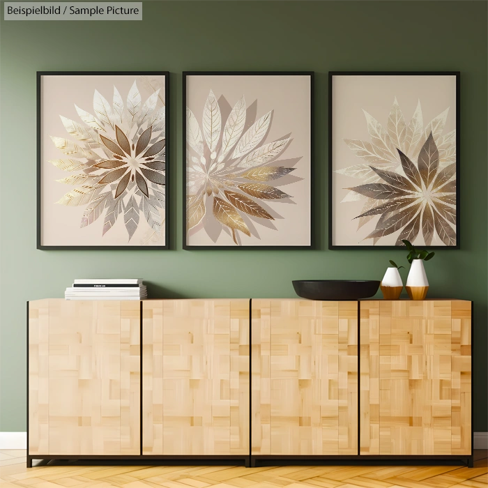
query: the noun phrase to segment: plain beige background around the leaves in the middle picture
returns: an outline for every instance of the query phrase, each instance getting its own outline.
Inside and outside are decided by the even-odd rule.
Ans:
[[[269,229],[253,220],[260,238],[248,237],[239,232],[242,246],[285,246],[310,245],[310,76],[307,75],[190,75],[187,83],[187,107],[195,114],[201,127],[204,105],[210,90],[219,100],[224,96],[231,107],[243,95],[246,107],[250,107],[257,100],[256,119],[273,110],[270,130],[264,139],[264,144],[282,139],[291,133],[293,140],[276,160],[267,166],[277,166],[277,161],[302,157],[290,175],[303,178],[289,185],[280,185],[280,179],[264,182],[280,188],[291,195],[295,204],[280,200],[266,200],[262,203],[270,206],[282,219],[273,222],[277,230]],[[222,117],[222,130],[227,118]],[[245,128],[247,130],[247,128]],[[187,146],[187,151],[191,150]],[[287,166],[287,164],[284,164]],[[251,182],[250,182],[251,183]],[[255,183],[255,182],[254,182]],[[259,204],[261,200],[254,198]],[[211,206],[207,206],[206,213],[212,213]],[[268,220],[269,222],[269,220]],[[193,230],[193,229],[192,229]],[[187,234],[187,245],[229,245],[238,247],[227,232],[220,233],[218,241],[214,243],[206,234],[205,229],[199,229]]]

